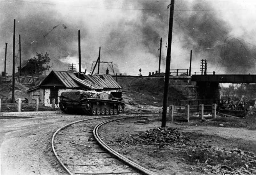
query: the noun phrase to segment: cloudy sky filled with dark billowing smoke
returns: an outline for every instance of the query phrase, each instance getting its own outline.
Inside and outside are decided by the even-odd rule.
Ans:
[[[164,72],[169,4],[170,1],[0,1],[0,69],[4,71],[7,42],[7,73],[12,74],[15,19],[15,55],[19,57],[20,34],[21,60],[33,58],[36,52],[47,52],[50,66],[53,65],[48,73],[52,69],[67,70],[68,63],[76,64],[78,70],[78,30],[82,71],[90,72],[101,47],[101,61],[113,62],[115,73],[138,75],[141,68],[142,75],[147,76],[158,70],[162,37]],[[200,60],[206,59],[208,72],[255,74],[255,16],[256,1],[175,1],[171,69],[188,69],[192,50],[192,72],[199,72]],[[18,57],[15,67],[19,65]],[[108,64],[101,64],[101,73],[107,67],[110,69]]]

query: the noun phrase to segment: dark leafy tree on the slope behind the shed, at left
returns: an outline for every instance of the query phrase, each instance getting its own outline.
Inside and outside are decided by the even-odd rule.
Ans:
[[[38,54],[36,52],[36,57],[28,60],[27,69],[29,75],[42,75],[45,70],[49,70],[51,66],[48,65],[50,62],[49,54],[43,55],[43,53]]]

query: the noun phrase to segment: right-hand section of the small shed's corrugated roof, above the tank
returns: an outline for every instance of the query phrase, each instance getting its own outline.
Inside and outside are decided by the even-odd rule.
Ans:
[[[111,75],[83,75],[83,77],[103,89],[122,89]]]

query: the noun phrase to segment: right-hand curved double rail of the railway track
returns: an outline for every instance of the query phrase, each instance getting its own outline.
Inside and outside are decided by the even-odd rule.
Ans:
[[[136,116],[138,117],[138,116]],[[143,116],[144,117],[144,116]],[[132,117],[123,117],[123,118],[118,118],[118,119],[113,119],[113,120],[108,120],[105,122],[102,122],[100,124],[98,124],[94,129],[93,129],[93,135],[95,137],[95,139],[100,143],[100,145],[102,147],[104,147],[105,149],[107,149],[111,154],[115,155],[117,158],[123,160],[125,163],[131,165],[132,167],[134,167],[135,169],[143,172],[146,175],[156,175],[155,173],[149,171],[148,169],[140,166],[139,164],[136,164],[135,162],[129,160],[128,158],[124,157],[123,155],[119,154],[118,152],[116,152],[114,149],[110,148],[105,142],[102,141],[102,139],[100,138],[99,134],[98,134],[98,130],[99,128],[109,122],[115,121],[115,120],[122,120],[122,119],[128,119],[128,118],[134,118],[134,116]]]

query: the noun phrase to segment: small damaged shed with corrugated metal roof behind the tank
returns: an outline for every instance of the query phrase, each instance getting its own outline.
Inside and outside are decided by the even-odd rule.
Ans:
[[[28,90],[28,103],[39,98],[40,106],[51,106],[52,99],[59,103],[60,93],[68,89],[119,91],[122,87],[111,75],[84,75],[78,72],[52,71],[37,87]]]

